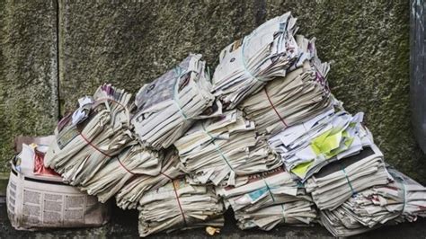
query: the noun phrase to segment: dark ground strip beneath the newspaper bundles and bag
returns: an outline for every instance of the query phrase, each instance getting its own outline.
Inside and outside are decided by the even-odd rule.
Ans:
[[[136,210],[123,211],[112,209],[111,222],[97,228],[78,228],[63,230],[48,230],[41,232],[16,231],[10,225],[4,198],[0,197],[0,238],[138,238],[138,213]],[[204,238],[211,237],[203,229],[159,234],[151,238]],[[270,232],[261,230],[242,231],[235,226],[231,213],[226,214],[226,226],[216,238],[333,238],[323,227],[289,227],[279,226]],[[415,223],[405,223],[399,226],[387,226],[376,231],[359,235],[356,238],[426,238],[426,219]]]

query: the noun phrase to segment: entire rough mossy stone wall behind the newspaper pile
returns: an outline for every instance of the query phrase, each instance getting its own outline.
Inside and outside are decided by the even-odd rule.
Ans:
[[[4,160],[15,135],[51,132],[59,111],[72,110],[78,97],[99,84],[136,93],[190,52],[203,54],[214,68],[220,49],[265,20],[292,11],[299,32],[315,36],[320,57],[332,61],[333,93],[348,111],[366,113],[366,125],[387,162],[426,182],[426,157],[410,123],[408,2],[119,2],[59,0],[57,12],[56,1],[0,4]],[[55,33],[58,51],[52,50]]]

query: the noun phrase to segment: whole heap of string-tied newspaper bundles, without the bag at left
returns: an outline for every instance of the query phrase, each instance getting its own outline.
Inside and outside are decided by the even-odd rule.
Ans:
[[[390,168],[327,84],[315,39],[285,13],[220,52],[130,93],[110,84],[55,129],[44,165],[119,208],[141,236],[224,226],[321,224],[335,236],[426,217],[426,188]]]

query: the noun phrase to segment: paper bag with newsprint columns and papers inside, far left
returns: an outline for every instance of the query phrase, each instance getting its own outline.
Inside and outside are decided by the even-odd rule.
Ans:
[[[28,170],[23,166],[33,164],[37,156],[24,153],[31,152],[31,147],[22,142],[36,144],[32,149],[41,150],[51,139],[25,137],[22,140],[21,137],[15,140],[15,149],[21,152],[12,161],[6,190],[7,213],[12,226],[17,230],[39,230],[106,224],[109,204],[101,204],[95,197],[65,184],[56,174],[40,173],[36,168]]]

